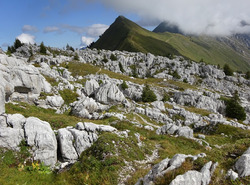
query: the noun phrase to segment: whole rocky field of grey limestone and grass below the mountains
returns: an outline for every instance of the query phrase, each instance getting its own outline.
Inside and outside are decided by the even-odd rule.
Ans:
[[[0,53],[0,184],[250,183],[247,75],[178,55],[39,51]]]

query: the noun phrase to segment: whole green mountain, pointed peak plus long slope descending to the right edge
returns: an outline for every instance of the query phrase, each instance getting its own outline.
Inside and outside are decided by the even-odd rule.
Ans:
[[[185,36],[178,33],[154,33],[119,16],[92,48],[150,52],[155,55],[182,55],[194,61],[220,65],[234,70],[250,69],[250,49],[236,38]]]

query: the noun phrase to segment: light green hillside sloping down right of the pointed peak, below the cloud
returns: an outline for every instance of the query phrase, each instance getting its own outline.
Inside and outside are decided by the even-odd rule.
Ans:
[[[229,64],[234,70],[247,71],[250,69],[249,59],[243,57],[230,46],[220,42],[215,37],[184,36],[174,33],[159,33],[159,37],[171,44],[181,55],[194,61],[201,59],[209,64]]]

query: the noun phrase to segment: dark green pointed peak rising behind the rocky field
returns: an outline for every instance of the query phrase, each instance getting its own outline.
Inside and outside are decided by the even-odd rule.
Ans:
[[[158,39],[156,33],[141,28],[122,16],[115,20],[92,47],[107,50],[151,52],[162,56],[180,54],[170,44]]]

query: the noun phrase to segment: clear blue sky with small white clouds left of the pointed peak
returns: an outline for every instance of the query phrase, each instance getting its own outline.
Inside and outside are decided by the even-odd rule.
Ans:
[[[100,2],[77,0],[0,0],[0,47],[18,37],[24,42],[73,47],[89,44],[105,31],[119,12]],[[126,14],[136,21],[137,16]]]

